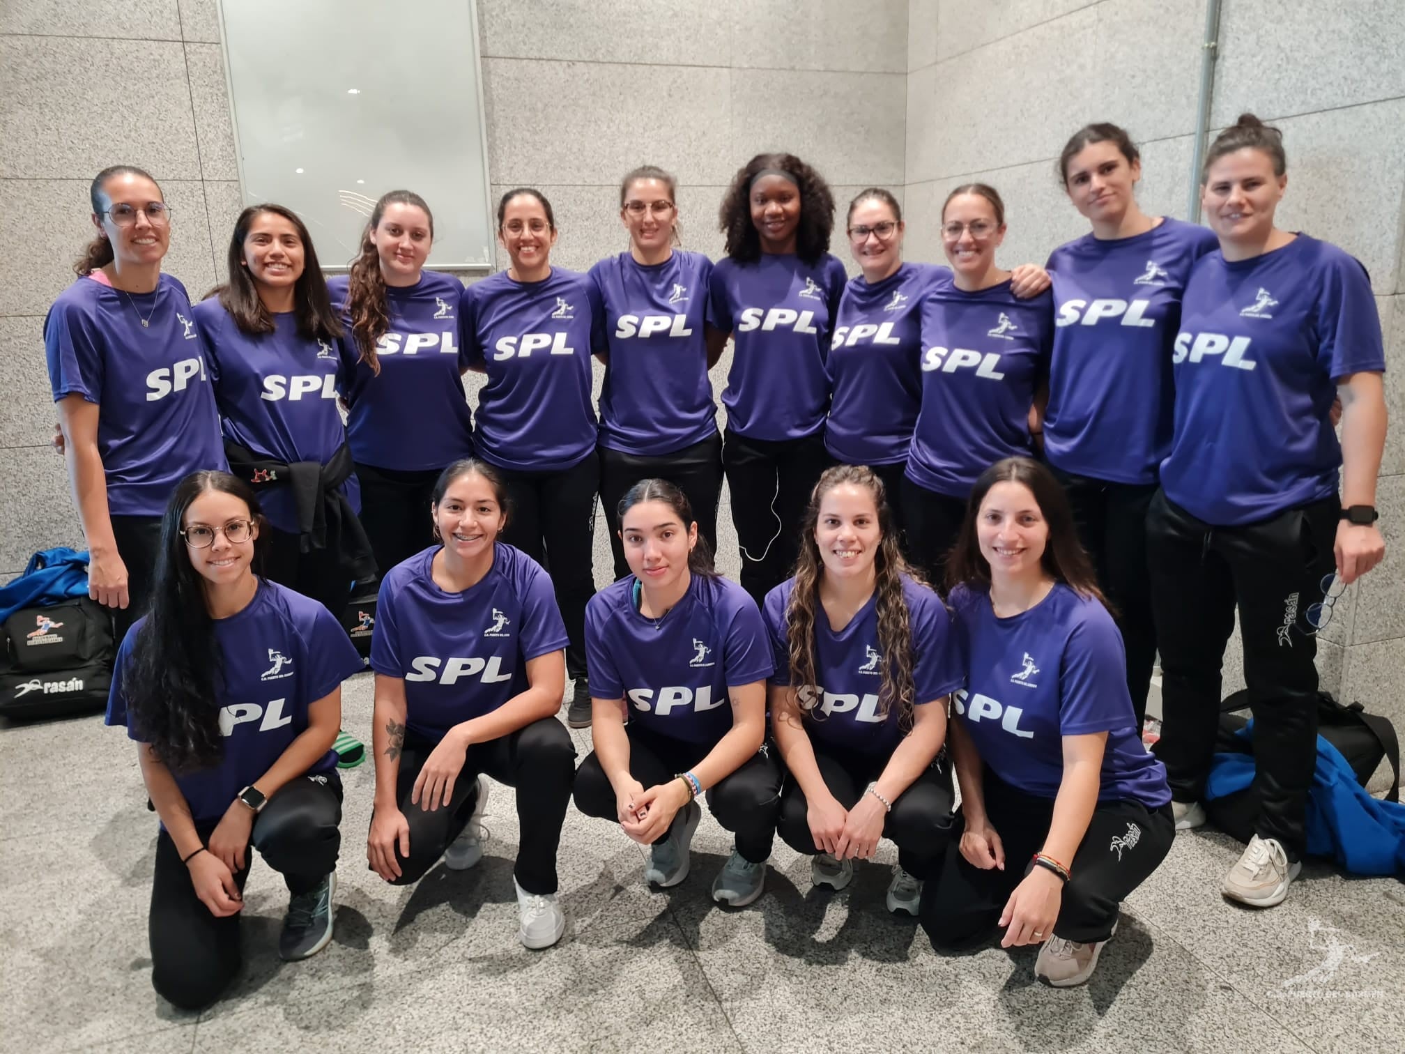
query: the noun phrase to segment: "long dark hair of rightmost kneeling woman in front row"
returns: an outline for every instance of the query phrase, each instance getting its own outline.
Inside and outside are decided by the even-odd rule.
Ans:
[[[1102,601],[1104,607],[1111,610],[1107,597],[1097,587],[1093,562],[1078,541],[1078,528],[1073,526],[1073,510],[1068,503],[1068,495],[1064,493],[1064,488],[1059,486],[1054,474],[1033,458],[996,461],[975,481],[967,502],[965,519],[961,521],[961,534],[947,558],[947,587],[961,583],[991,585],[991,564],[981,555],[975,520],[981,514],[981,502],[996,483],[1023,483],[1034,495],[1040,514],[1050,528],[1048,542],[1040,558],[1044,571],[1057,582],[1065,583],[1082,596]]]

